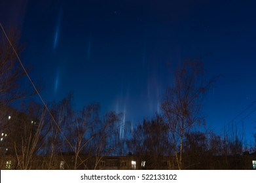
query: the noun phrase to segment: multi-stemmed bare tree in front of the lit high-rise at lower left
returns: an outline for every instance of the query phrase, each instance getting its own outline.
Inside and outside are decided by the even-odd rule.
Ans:
[[[43,128],[45,110],[37,103],[22,105],[24,111],[9,107],[9,118],[3,121],[5,129],[1,131],[1,154],[10,156],[16,162],[13,169],[31,169],[37,152],[44,144]]]

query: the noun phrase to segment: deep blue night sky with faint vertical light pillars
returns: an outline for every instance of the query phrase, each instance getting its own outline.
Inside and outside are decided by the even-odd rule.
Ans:
[[[219,76],[202,105],[206,128],[221,133],[225,124],[244,122],[250,139],[256,131],[254,2],[1,0],[0,22],[20,29],[27,43],[22,61],[32,66],[33,80],[43,80],[47,102],[73,92],[75,108],[98,102],[102,113],[124,112],[136,124],[158,112],[173,82],[170,70],[195,58],[206,78]]]

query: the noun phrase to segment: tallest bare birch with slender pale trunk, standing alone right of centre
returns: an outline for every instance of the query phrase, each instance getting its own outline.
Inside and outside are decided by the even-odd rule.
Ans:
[[[161,109],[172,137],[178,169],[183,169],[183,142],[185,133],[204,123],[200,107],[204,93],[213,80],[204,82],[202,63],[186,61],[174,73],[174,85],[168,88]]]

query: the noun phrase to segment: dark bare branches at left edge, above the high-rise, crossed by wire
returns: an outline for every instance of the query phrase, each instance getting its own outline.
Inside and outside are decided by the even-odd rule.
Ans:
[[[12,45],[3,31],[0,32],[0,105],[4,105],[30,94],[20,88],[20,80],[24,78],[25,73],[16,56],[16,53],[20,54],[23,50],[19,44],[18,31],[9,31],[8,37]]]

